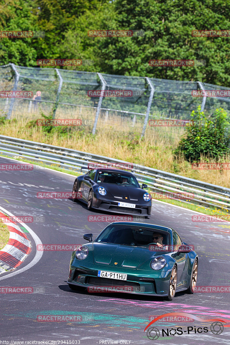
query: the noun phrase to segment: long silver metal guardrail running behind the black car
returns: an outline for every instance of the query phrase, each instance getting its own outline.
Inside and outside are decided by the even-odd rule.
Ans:
[[[57,166],[76,172],[87,168],[88,164],[131,164],[132,172],[140,183],[148,184],[152,192],[161,194],[190,193],[183,203],[197,204],[205,207],[223,208],[230,211],[230,188],[212,185],[199,180],[172,174],[120,159],[99,156],[88,152],[48,145],[40,142],[12,138],[0,135],[0,154],[9,157],[19,156],[35,162]],[[178,200],[178,198],[175,198]]]

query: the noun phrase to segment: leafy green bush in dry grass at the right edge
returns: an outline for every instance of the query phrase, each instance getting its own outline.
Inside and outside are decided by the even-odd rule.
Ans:
[[[192,125],[186,127],[185,135],[174,150],[177,157],[182,154],[188,161],[199,161],[201,155],[219,159],[230,153],[229,122],[223,108],[216,109],[211,120],[199,106],[192,111],[191,118]]]

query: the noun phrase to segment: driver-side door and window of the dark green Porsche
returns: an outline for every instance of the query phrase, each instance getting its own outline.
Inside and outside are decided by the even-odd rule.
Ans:
[[[180,253],[177,254],[177,251],[179,247],[183,244],[180,236],[176,233],[176,231],[173,231],[172,233],[172,239],[173,239],[173,254],[172,257],[177,262],[177,287],[181,287],[184,284],[187,284],[186,279],[186,272],[187,272],[187,254],[186,253]]]

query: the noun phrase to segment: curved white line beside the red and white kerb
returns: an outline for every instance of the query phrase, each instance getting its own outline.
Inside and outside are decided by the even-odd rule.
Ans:
[[[3,208],[3,207],[1,207],[1,206],[0,206],[0,210],[2,210],[3,212],[5,212],[6,214],[8,214],[8,215],[11,216],[11,217],[16,217],[16,216],[14,216],[11,212],[7,211],[5,208]],[[25,267],[22,267],[22,268],[20,268],[20,269],[14,271],[14,272],[12,272],[12,273],[10,273],[10,274],[7,274],[7,275],[4,276],[4,277],[0,277],[0,280],[6,279],[6,278],[10,278],[10,277],[13,277],[13,276],[15,276],[16,274],[22,273],[22,272],[26,271],[27,269],[30,269],[31,267],[33,267],[34,265],[36,265],[36,264],[39,262],[39,260],[41,259],[41,257],[42,257],[43,252],[42,252],[42,251],[37,251],[37,244],[42,244],[40,238],[34,233],[34,231],[33,231],[28,225],[26,225],[26,224],[23,223],[23,222],[20,222],[20,224],[21,224],[24,228],[26,228],[27,231],[29,231],[30,235],[33,237],[33,240],[34,240],[35,245],[36,245],[36,255],[34,256],[33,260],[32,260],[29,264],[27,264]]]

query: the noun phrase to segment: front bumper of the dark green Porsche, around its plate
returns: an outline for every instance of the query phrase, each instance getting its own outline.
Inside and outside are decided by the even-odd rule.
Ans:
[[[97,277],[98,270],[126,273],[127,280]],[[95,288],[97,292],[100,292],[100,288],[104,288],[101,292],[125,292],[164,297],[168,296],[170,277],[171,270],[150,273],[141,269],[113,268],[94,264],[91,269],[70,266],[67,283],[88,288],[88,292],[94,292]]]

